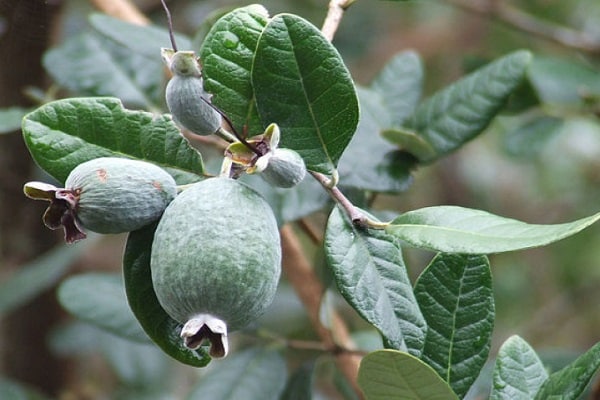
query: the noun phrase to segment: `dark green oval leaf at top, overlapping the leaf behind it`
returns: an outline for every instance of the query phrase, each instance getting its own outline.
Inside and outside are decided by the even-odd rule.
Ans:
[[[256,48],[252,84],[263,124],[281,128],[281,147],[331,174],[358,124],[358,99],[339,53],[310,22],[275,16]]]

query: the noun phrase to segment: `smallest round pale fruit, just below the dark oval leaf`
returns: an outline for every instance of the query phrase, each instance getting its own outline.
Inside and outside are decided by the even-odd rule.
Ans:
[[[306,166],[300,154],[294,150],[277,148],[273,150],[260,176],[274,186],[291,188],[304,179]]]

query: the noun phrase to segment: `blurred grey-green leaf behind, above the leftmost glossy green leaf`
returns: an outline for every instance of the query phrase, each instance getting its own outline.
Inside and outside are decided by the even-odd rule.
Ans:
[[[46,52],[43,64],[54,81],[79,96],[114,96],[130,107],[160,109],[163,65],[97,34],[74,36]]]

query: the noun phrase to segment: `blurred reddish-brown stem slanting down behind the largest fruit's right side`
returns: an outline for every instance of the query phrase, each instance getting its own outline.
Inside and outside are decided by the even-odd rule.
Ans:
[[[306,258],[298,237],[289,225],[281,228],[281,247],[283,271],[304,304],[312,326],[325,348],[333,352],[336,364],[342,374],[362,398],[357,384],[358,367],[362,357],[355,352],[340,351],[340,349],[352,349],[354,343],[344,320],[335,310],[330,313],[331,329],[321,322],[319,313],[325,288]]]

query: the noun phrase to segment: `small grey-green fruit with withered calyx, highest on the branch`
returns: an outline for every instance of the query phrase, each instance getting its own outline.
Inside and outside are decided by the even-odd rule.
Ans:
[[[193,51],[161,49],[161,56],[173,76],[165,98],[173,120],[197,135],[211,135],[221,127],[221,114],[209,104],[204,91],[200,63]]]

